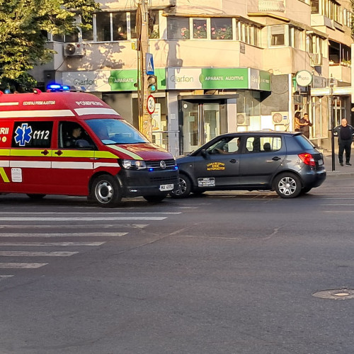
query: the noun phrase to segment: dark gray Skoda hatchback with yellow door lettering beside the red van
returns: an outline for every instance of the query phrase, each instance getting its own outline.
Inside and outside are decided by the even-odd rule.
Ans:
[[[302,132],[219,135],[176,163],[173,198],[206,190],[275,190],[281,198],[295,198],[326,179],[323,155]]]

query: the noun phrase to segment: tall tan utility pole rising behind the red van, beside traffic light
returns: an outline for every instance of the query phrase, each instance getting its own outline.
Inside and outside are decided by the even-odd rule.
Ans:
[[[149,52],[149,11],[147,0],[139,1],[137,5],[137,97],[139,105],[139,130],[152,141],[152,117],[147,111],[149,96],[146,55]]]

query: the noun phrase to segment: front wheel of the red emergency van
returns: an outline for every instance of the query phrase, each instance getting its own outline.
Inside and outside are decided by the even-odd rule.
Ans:
[[[101,207],[117,206],[122,199],[118,181],[110,175],[98,176],[93,181],[90,199],[97,202]]]

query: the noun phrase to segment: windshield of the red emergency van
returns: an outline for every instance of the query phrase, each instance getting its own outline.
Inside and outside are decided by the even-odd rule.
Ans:
[[[105,145],[149,142],[135,127],[122,119],[91,119],[86,120],[86,123]]]

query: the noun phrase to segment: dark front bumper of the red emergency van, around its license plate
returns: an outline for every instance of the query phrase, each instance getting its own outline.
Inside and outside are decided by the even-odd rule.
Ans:
[[[147,171],[121,169],[117,175],[122,197],[162,195],[178,188],[178,170]],[[173,189],[164,190],[164,186]]]

